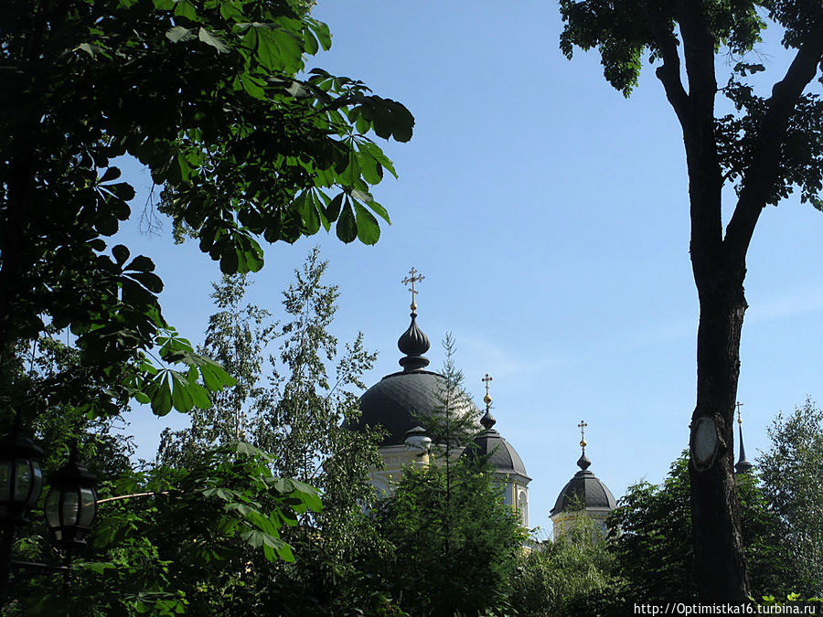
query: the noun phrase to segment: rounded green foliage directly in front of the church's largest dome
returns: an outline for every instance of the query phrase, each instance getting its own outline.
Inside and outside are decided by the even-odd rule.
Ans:
[[[377,525],[390,542],[372,566],[413,615],[503,611],[525,531],[503,504],[492,473],[465,458],[451,466],[407,467]]]

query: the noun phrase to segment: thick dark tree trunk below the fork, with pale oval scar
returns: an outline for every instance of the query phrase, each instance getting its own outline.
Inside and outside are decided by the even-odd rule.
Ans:
[[[696,580],[700,600],[707,603],[743,602],[749,595],[733,474],[745,267],[728,270],[702,276],[695,271],[700,325],[689,475]]]

